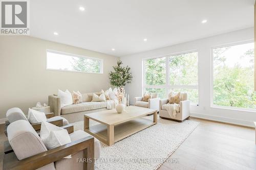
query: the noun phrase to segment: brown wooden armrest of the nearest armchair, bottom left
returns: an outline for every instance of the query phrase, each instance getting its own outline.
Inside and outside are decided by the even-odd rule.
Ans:
[[[3,169],[37,169],[66,157],[83,151],[83,169],[94,169],[94,138],[88,136],[52,150],[42,152],[23,160],[18,160],[14,152],[4,155]]]

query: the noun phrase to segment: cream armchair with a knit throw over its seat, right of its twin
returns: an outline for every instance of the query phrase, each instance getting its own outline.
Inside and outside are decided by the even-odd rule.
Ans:
[[[163,105],[168,103],[168,99],[162,99],[159,102],[159,116],[169,120],[176,120],[178,122],[182,122],[186,118],[190,116],[190,101],[187,100],[187,93],[180,93],[180,112],[176,114],[176,117],[173,114],[167,112],[164,109]]]

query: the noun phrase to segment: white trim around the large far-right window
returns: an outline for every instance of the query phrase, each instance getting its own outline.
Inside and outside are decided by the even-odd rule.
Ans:
[[[226,44],[211,47],[211,55],[210,55],[210,62],[211,62],[210,63],[210,108],[240,110],[240,111],[253,111],[253,112],[255,112],[256,109],[214,105],[214,49],[228,47],[228,46],[234,46],[234,45],[242,45],[242,44],[252,43],[252,42],[254,42],[254,39],[249,39],[249,40],[245,40],[245,41],[238,41],[238,42],[231,42],[231,43],[226,43]],[[255,53],[254,53],[254,55],[255,55]]]

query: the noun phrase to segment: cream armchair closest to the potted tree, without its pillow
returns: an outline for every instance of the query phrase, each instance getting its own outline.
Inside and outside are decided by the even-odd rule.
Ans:
[[[160,100],[160,98],[158,98],[158,93],[151,93],[151,94],[152,94],[152,98],[148,99],[148,102],[142,101],[143,96],[142,97],[135,97],[134,106],[146,107],[146,108],[149,108],[149,109],[155,109],[155,110],[159,111],[159,100]]]

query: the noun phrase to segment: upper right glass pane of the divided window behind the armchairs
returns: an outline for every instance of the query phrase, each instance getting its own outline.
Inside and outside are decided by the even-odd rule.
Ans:
[[[198,52],[169,57],[170,85],[198,85]]]

